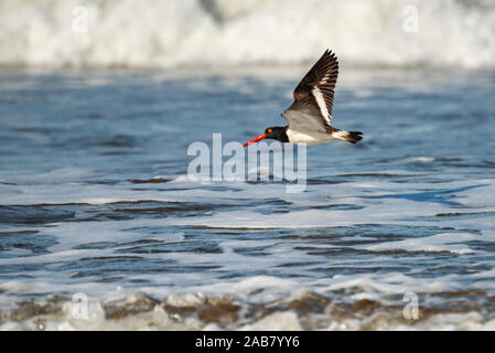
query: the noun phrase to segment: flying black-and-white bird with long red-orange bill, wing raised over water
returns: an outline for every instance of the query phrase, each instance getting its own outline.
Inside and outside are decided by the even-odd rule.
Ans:
[[[330,125],[333,96],[337,82],[338,62],[335,54],[326,50],[294,89],[294,101],[282,113],[289,122],[286,127],[270,127],[244,147],[262,139],[308,146],[344,140],[356,143],[363,132],[344,131]]]

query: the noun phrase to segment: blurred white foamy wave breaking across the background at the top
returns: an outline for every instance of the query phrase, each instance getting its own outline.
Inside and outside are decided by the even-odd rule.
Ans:
[[[489,0],[7,0],[0,65],[495,67]]]

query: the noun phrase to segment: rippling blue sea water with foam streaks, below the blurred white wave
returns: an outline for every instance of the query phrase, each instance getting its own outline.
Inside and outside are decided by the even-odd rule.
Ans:
[[[343,71],[364,140],[309,147],[302,193],[189,180],[304,71],[3,71],[1,327],[493,329],[491,71]]]

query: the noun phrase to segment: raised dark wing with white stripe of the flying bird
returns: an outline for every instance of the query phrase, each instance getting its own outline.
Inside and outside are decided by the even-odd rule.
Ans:
[[[295,87],[294,101],[282,114],[291,128],[304,125],[325,130],[330,127],[337,75],[337,57],[326,50]]]

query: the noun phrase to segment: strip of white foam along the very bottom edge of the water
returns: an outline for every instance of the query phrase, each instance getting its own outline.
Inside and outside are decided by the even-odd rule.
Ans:
[[[69,308],[67,308],[69,310]],[[281,311],[270,314],[252,323],[237,328],[239,330],[302,330],[301,320],[293,311]],[[379,321],[381,319],[381,322]],[[40,328],[36,319],[14,322],[7,321],[0,324],[0,331],[13,330],[222,330],[217,324],[204,324],[197,319],[189,318],[179,323],[171,319],[166,312],[155,307],[152,311],[132,314],[120,320],[107,320],[97,317],[93,320],[74,320],[67,312],[62,318],[49,318],[46,323]],[[375,322],[373,322],[375,321]],[[476,312],[435,314],[419,323],[397,324],[389,320],[385,313],[376,313],[366,320],[335,319],[323,328],[324,330],[361,330],[370,328],[375,330],[489,330],[495,329],[495,320],[484,320]],[[316,328],[314,328],[316,329]],[[321,329],[321,328],[320,328]]]

